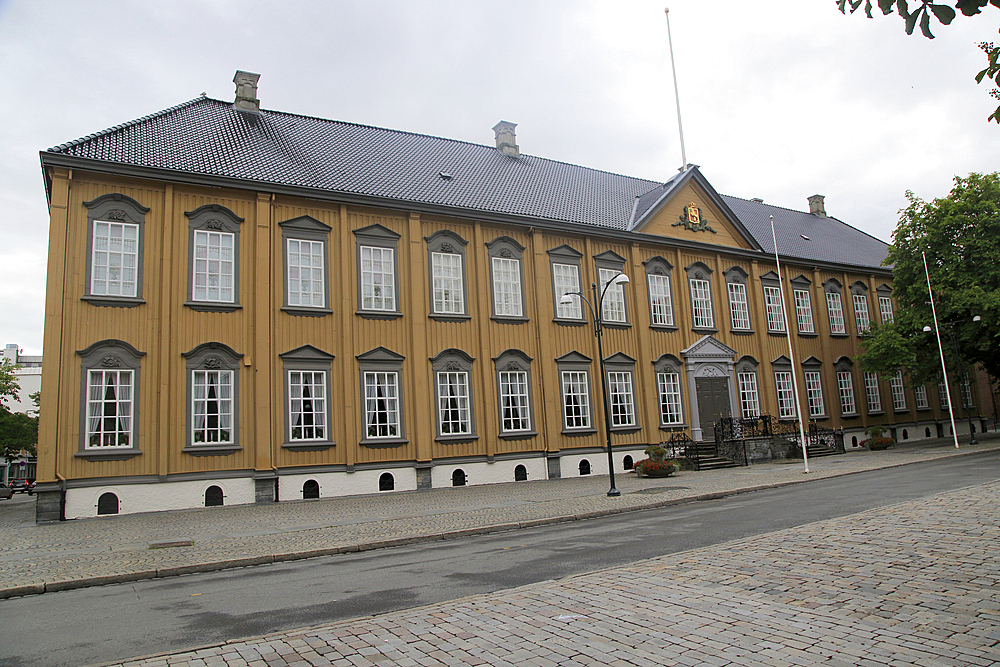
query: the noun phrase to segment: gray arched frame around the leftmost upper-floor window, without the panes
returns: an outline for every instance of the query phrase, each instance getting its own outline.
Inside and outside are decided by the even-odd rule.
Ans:
[[[146,214],[149,208],[127,195],[113,192],[83,202],[87,207],[87,262],[83,296],[92,306],[112,308],[135,308],[146,303],[142,298],[143,255],[146,248]],[[98,222],[123,223],[138,227],[136,248],[135,296],[119,296],[93,293],[94,232]]]

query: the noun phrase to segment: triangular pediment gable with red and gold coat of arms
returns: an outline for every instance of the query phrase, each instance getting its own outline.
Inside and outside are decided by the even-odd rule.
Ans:
[[[637,204],[631,230],[684,241],[760,250],[761,246],[696,166],[662,187],[652,204]],[[652,194],[656,194],[652,191]],[[637,200],[637,202],[639,201]]]

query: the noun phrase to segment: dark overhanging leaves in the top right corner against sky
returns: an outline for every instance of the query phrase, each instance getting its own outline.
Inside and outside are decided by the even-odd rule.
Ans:
[[[934,39],[934,34],[931,32],[931,15],[939,23],[950,25],[955,17],[958,16],[955,9],[962,12],[965,16],[975,16],[981,13],[982,8],[987,5],[1000,7],[1000,0],[957,0],[955,2],[955,9],[952,9],[948,5],[935,3],[932,0],[912,1],[917,5],[913,11],[910,11],[910,0],[877,0],[877,4],[883,14],[892,14],[893,12],[899,14],[899,17],[905,22],[907,35],[912,35],[914,28],[919,24],[920,32],[928,39]],[[872,0],[835,0],[835,2],[843,14],[846,14],[848,9],[853,14],[864,5],[865,15],[868,18],[872,18]],[[982,83],[983,79],[986,79],[987,81],[994,81],[1000,86],[1000,64],[997,62],[1000,59],[1000,46],[997,46],[993,42],[980,42],[979,48],[986,54],[988,64],[985,69],[976,75],[976,83]],[[990,95],[994,99],[1000,99],[1000,90],[994,88],[990,91]],[[997,107],[986,120],[994,120],[1000,123],[1000,107]]]

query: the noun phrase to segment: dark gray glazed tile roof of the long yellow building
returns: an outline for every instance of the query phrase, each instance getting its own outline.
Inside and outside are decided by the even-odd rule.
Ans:
[[[507,155],[492,146],[277,111],[247,114],[207,97],[47,153],[618,230],[630,229],[634,214],[648,211],[679,180],[664,184]],[[795,237],[787,240],[790,256],[866,266],[885,256],[884,243],[834,219],[724,199],[765,248],[771,247],[767,216],[777,222],[774,211],[780,211],[782,252],[784,237]],[[805,231],[817,226],[825,233]]]

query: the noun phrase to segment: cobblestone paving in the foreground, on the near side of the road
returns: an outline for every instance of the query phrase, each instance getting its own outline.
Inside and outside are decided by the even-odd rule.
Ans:
[[[1000,663],[1000,483],[116,667]]]

